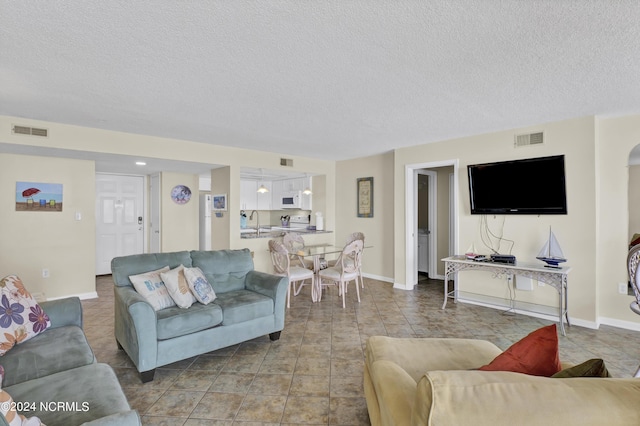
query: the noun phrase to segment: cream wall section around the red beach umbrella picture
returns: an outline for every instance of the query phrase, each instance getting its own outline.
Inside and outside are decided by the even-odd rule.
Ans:
[[[16,211],[18,181],[62,184],[62,211]],[[0,154],[0,224],[1,276],[16,274],[45,298],[95,295],[93,162]]]

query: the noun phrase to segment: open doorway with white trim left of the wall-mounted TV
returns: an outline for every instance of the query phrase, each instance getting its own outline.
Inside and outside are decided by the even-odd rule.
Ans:
[[[420,175],[428,176],[427,269],[429,278],[442,279],[440,258],[458,251],[458,160],[409,164],[405,166],[405,289],[418,283],[419,228],[418,191]],[[440,182],[440,183],[438,183]],[[443,214],[444,212],[444,214]],[[424,223],[422,220],[420,223]],[[424,228],[423,228],[424,229]],[[424,238],[424,237],[422,237]]]

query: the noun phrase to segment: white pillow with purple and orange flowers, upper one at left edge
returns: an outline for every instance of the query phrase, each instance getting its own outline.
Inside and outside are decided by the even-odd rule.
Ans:
[[[51,326],[49,316],[16,275],[0,281],[0,356]]]

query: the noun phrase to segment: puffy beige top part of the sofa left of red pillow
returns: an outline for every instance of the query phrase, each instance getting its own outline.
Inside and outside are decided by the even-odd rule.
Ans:
[[[369,368],[376,361],[392,361],[417,382],[425,371],[478,368],[501,352],[486,340],[371,336],[365,355]]]

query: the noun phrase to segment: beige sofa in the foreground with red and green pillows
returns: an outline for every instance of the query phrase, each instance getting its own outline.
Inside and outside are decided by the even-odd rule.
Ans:
[[[640,424],[640,379],[475,371],[501,352],[484,340],[370,337],[364,391],[371,424]]]

